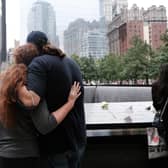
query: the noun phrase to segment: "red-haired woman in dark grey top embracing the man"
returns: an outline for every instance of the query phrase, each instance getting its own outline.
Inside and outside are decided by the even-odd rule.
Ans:
[[[46,53],[63,57],[61,50],[50,45]],[[58,54],[59,53],[59,54]],[[31,112],[23,109],[18,102],[17,91],[26,85],[27,66],[39,55],[33,44],[18,47],[14,53],[16,64],[0,75],[0,168],[38,168],[46,167],[39,160],[38,134],[46,134],[55,129],[73,108],[80,96],[79,83],[72,86],[67,103],[49,113],[45,101]],[[34,98],[32,97],[32,104]]]

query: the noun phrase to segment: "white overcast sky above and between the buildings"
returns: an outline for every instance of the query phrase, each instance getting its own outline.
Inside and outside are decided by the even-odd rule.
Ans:
[[[32,3],[38,0],[6,0],[7,6],[7,47],[13,47],[14,39],[24,41],[27,30],[27,14]],[[99,19],[99,0],[46,0],[56,12],[57,34],[62,34],[69,24],[77,18]],[[164,5],[166,0],[128,0],[129,8],[136,3],[139,7]]]

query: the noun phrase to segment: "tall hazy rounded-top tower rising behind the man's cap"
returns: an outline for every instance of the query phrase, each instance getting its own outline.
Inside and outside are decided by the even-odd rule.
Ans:
[[[56,37],[56,17],[52,5],[48,2],[37,1],[28,14],[28,33],[33,30],[43,31],[52,44],[58,45]]]

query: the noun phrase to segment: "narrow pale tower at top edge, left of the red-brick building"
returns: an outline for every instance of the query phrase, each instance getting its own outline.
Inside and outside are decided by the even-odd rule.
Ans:
[[[100,18],[104,17],[107,22],[112,21],[112,0],[99,0]]]

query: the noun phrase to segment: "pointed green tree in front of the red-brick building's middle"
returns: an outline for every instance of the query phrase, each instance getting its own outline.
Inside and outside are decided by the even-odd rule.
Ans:
[[[132,47],[124,56],[124,78],[137,84],[138,79],[148,80],[149,46],[138,37],[133,37]]]

